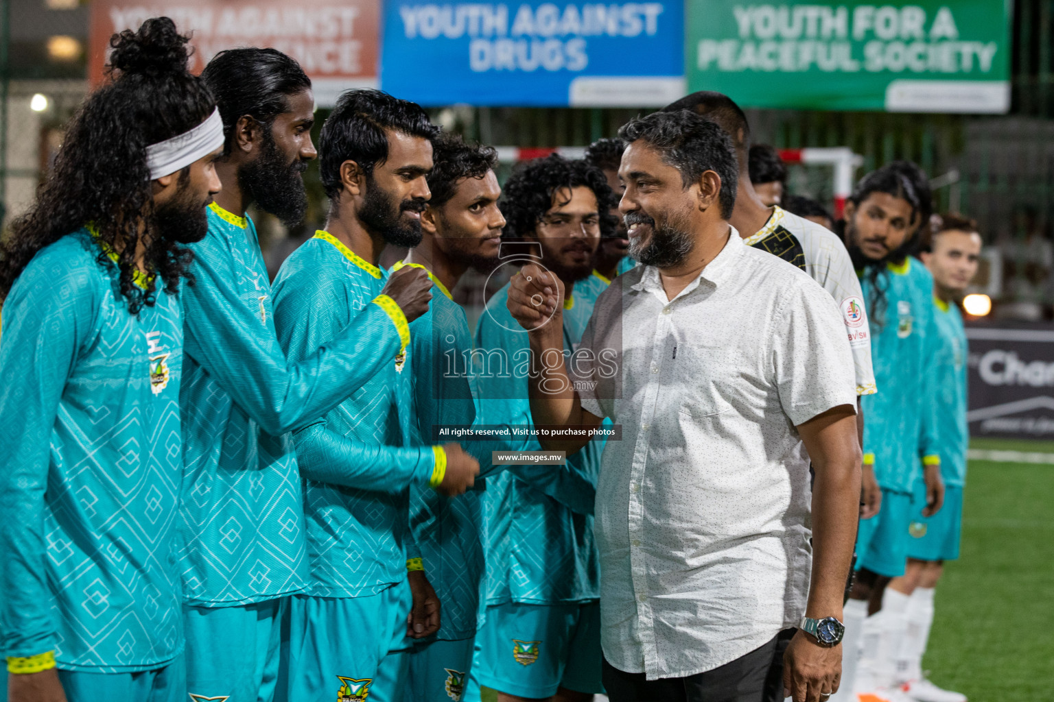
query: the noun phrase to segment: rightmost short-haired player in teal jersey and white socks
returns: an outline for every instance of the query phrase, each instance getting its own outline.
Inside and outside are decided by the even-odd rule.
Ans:
[[[934,588],[944,561],[959,557],[962,528],[962,487],[967,477],[967,333],[958,303],[980,261],[981,237],[977,224],[959,215],[944,215],[924,242],[922,262],[933,274],[934,303],[940,347],[930,359],[929,372],[936,377],[940,412],[937,416],[940,472],[944,479],[944,506],[936,515],[925,514],[925,485],[915,483],[915,503],[907,526],[907,567],[890,588],[910,596],[907,627],[897,654],[900,689],[919,702],[965,702],[960,693],[941,689],[922,674],[933,624]]]

